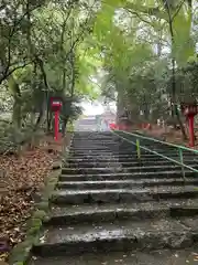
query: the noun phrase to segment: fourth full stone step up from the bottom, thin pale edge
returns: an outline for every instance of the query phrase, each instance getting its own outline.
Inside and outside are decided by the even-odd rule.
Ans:
[[[58,189],[128,189],[158,186],[198,184],[198,178],[180,179],[141,179],[141,180],[94,180],[94,181],[59,181]]]

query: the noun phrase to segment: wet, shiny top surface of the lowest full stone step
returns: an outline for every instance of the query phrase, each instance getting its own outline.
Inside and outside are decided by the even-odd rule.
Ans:
[[[186,222],[188,222],[187,220]],[[183,221],[184,223],[185,221]],[[69,242],[81,241],[85,237],[87,241],[95,241],[96,239],[105,237],[122,237],[136,236],[141,237],[146,232],[157,233],[163,231],[182,232],[188,231],[189,227],[176,220],[147,220],[144,222],[122,221],[122,223],[114,221],[108,223],[80,223],[73,226],[50,227],[42,236],[42,242]]]

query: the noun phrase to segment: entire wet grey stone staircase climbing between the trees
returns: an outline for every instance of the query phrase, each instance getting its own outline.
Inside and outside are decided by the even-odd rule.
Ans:
[[[185,152],[187,165],[197,161]],[[187,169],[184,180],[180,166],[146,151],[139,161],[111,132],[75,134],[67,162],[31,265],[198,264],[197,173]]]

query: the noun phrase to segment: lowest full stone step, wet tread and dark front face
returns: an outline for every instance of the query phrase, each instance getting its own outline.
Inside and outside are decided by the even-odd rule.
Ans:
[[[190,247],[198,241],[198,221],[190,219],[81,223],[48,227],[41,234],[33,253],[41,256],[70,255],[92,252],[160,250]]]

